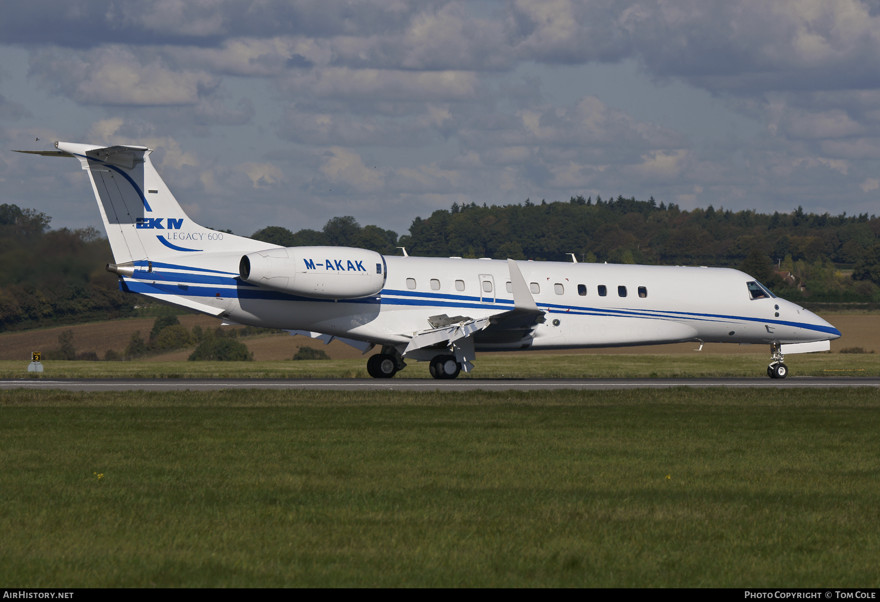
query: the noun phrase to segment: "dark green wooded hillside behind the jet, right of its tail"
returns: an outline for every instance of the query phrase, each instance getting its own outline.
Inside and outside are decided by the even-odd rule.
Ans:
[[[482,206],[453,204],[416,217],[409,234],[361,228],[335,217],[322,231],[277,226],[252,236],[269,243],[334,244],[420,257],[493,257],[642,265],[736,267],[810,301],[880,301],[880,219],[875,215],[683,210],[651,197]],[[287,245],[286,243],[291,243]]]

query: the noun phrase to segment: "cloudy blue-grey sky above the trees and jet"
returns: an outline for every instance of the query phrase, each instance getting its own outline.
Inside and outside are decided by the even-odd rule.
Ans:
[[[245,235],[576,194],[880,213],[880,1],[5,3],[0,146],[56,140],[156,149]],[[73,160],[4,150],[4,202],[99,221]]]

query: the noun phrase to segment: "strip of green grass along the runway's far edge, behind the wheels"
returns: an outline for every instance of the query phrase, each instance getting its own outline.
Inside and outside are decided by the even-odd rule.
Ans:
[[[769,353],[598,355],[506,353],[477,355],[472,374],[458,378],[766,376]],[[408,362],[401,378],[430,378],[427,362]],[[792,376],[877,376],[880,354],[788,355]],[[45,361],[41,378],[367,378],[366,359],[263,362]],[[0,378],[34,376],[26,361],[0,361]]]

